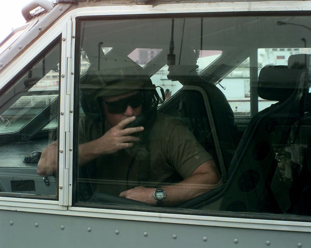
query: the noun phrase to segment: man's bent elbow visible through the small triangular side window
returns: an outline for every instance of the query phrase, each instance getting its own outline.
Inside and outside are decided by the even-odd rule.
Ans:
[[[54,176],[57,170],[57,141],[44,148],[38,162],[37,174],[40,176]]]

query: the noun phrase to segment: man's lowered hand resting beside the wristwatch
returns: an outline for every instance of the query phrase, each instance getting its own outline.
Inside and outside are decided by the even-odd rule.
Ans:
[[[119,196],[136,201],[142,201],[151,205],[156,205],[156,199],[153,197],[154,191],[154,188],[138,186],[133,189],[121,192]]]

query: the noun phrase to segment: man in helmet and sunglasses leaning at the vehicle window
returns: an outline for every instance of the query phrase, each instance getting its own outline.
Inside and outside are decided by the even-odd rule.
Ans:
[[[173,206],[220,185],[212,156],[193,134],[157,113],[159,95],[144,69],[128,57],[107,58],[103,70],[90,69],[80,83],[86,116],[78,126],[78,161],[100,182],[92,191]],[[39,175],[55,174],[57,146],[44,149]]]

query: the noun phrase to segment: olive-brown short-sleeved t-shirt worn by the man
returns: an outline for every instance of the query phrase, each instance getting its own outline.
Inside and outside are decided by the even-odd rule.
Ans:
[[[79,143],[99,138],[104,134],[102,129],[101,123],[83,118],[79,124]],[[145,142],[95,159],[96,190],[119,195],[127,190],[127,183],[130,188],[176,183],[210,159],[212,156],[182,123],[158,113]]]

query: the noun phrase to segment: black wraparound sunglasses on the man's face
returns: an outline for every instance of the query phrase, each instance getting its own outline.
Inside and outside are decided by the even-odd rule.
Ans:
[[[142,93],[139,92],[135,95],[122,98],[117,101],[113,102],[104,102],[104,104],[107,105],[107,111],[110,114],[120,114],[125,112],[125,110],[128,108],[128,105],[132,108],[138,108],[140,105],[142,105]]]

